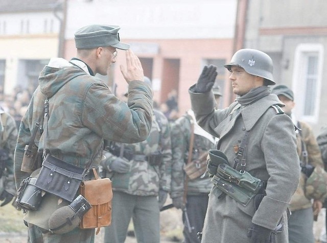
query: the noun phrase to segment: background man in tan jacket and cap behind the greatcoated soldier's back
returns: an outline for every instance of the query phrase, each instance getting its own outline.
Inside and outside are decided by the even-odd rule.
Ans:
[[[294,109],[294,94],[285,85],[275,86],[272,94],[285,104],[283,111],[289,115],[294,124],[301,130],[296,130],[297,154],[301,161],[302,173],[300,175],[299,186],[290,202],[291,216],[288,220],[288,234],[290,243],[314,243],[313,219],[318,215],[322,207],[321,194],[319,197],[306,197],[306,180],[310,177],[312,169],[323,168],[321,153],[313,130],[306,122],[297,121],[292,110]],[[312,169],[308,170],[311,167]],[[311,172],[311,173],[310,173]],[[320,185],[316,184],[315,190],[319,190]],[[324,185],[322,185],[324,187]],[[323,195],[322,195],[323,196]],[[313,203],[311,203],[313,199]]]

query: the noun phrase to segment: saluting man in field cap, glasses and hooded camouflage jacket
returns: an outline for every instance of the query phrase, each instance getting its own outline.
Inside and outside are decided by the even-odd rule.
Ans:
[[[42,114],[44,100],[49,99],[49,120],[35,144],[66,163],[85,168],[89,161],[100,164],[103,140],[136,143],[145,140],[151,129],[152,91],[143,82],[141,62],[131,50],[126,52],[127,68],[121,71],[129,84],[127,104],[113,95],[96,73],[106,75],[116,61],[116,48],[128,49],[119,41],[119,26],[88,25],[75,33],[77,58],[67,62],[52,59],[39,76],[39,86],[19,127],[14,156],[16,187],[31,173],[21,171],[25,145],[29,144],[35,123]],[[46,203],[44,203],[46,202]],[[45,194],[37,211],[29,211],[30,242],[94,242],[94,229],[75,228],[64,234],[49,229],[50,215],[67,205],[65,200]]]

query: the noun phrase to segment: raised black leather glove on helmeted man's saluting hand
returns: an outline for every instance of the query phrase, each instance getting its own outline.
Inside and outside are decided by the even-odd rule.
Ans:
[[[217,67],[213,65],[204,66],[198,82],[195,85],[194,91],[196,93],[207,93],[213,88],[218,74],[216,70]]]

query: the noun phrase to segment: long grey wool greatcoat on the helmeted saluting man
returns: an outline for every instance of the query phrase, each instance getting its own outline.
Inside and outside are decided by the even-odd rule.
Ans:
[[[274,229],[284,217],[284,230],[277,233],[276,242],[288,242],[287,207],[294,194],[300,175],[296,153],[294,125],[285,114],[278,114],[271,105],[284,106],[276,95],[269,94],[256,102],[241,106],[233,102],[224,110],[215,111],[212,92],[193,93],[190,89],[192,110],[198,124],[220,138],[220,150],[233,167],[235,150],[245,130],[250,131],[245,170],[252,176],[267,181],[266,196],[258,210],[252,199],[246,206],[239,204],[213,186],[203,228],[202,243],[246,243],[251,223]]]

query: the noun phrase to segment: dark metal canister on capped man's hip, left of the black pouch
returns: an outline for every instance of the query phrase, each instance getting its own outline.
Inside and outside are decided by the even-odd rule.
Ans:
[[[42,201],[40,188],[35,186],[36,178],[28,177],[20,182],[16,203],[25,210],[36,211]]]

